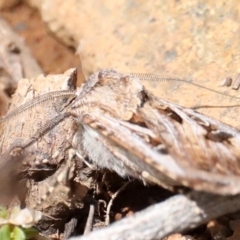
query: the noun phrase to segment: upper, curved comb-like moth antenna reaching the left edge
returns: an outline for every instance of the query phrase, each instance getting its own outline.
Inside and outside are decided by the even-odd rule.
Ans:
[[[21,106],[17,107],[13,111],[11,111],[6,116],[0,118],[0,123],[7,121],[8,119],[19,115],[22,112],[25,112],[28,109],[35,107],[36,105],[42,104],[44,102],[50,101],[54,98],[64,98],[64,97],[73,97],[75,96],[75,91],[61,90],[55,92],[49,92],[43,95],[40,95],[32,100],[27,101]]]

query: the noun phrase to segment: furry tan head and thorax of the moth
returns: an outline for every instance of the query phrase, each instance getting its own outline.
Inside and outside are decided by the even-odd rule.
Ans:
[[[143,90],[136,77],[112,69],[101,70],[91,75],[79,89],[73,108],[81,108],[81,112],[84,108],[88,112],[97,108],[98,112],[129,120],[141,106]]]

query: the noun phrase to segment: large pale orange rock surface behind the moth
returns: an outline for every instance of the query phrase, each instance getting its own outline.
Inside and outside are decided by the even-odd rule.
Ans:
[[[42,0],[47,27],[78,49],[86,75],[99,68],[162,73],[194,80],[218,91],[226,77],[240,72],[238,1]],[[145,84],[164,99],[187,107],[235,105],[238,101],[178,83]],[[226,91],[238,95],[233,90]],[[233,126],[236,108],[203,109]]]

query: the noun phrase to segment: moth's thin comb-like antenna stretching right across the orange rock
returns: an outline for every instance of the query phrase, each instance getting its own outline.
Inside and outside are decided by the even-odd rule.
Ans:
[[[222,93],[219,91],[216,91],[214,89],[208,88],[208,87],[204,87],[200,84],[194,83],[194,82],[189,82],[186,79],[182,79],[182,78],[176,78],[176,77],[171,77],[171,76],[165,76],[165,75],[160,75],[160,74],[149,74],[149,73],[129,73],[130,76],[132,77],[137,77],[139,78],[141,81],[159,81],[159,82],[170,82],[170,81],[175,81],[175,82],[181,82],[181,83],[187,83],[205,90],[208,90],[210,92],[214,92],[223,96],[227,96],[227,97],[231,97],[231,98],[235,98],[240,100],[240,97],[235,97],[226,93]]]

